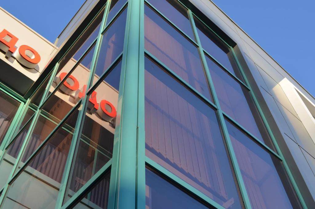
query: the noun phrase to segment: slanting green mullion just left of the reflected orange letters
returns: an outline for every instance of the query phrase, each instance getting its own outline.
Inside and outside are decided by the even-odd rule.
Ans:
[[[54,75],[56,73],[57,68],[58,68],[58,63],[55,64],[52,75]],[[41,101],[40,101],[39,105],[41,105],[43,103],[44,98],[46,97],[46,95],[49,92],[49,88],[50,88],[50,85],[52,84],[53,80],[54,80],[54,77],[51,76],[49,78],[48,84],[46,86],[46,89],[44,91],[43,97],[41,98]],[[17,158],[15,160],[15,163],[13,165],[13,168],[12,168],[11,173],[10,173],[9,178],[8,178],[8,182],[7,182],[7,184],[4,186],[4,188],[2,190],[2,193],[1,193],[1,196],[0,196],[0,208],[2,208],[4,200],[5,200],[5,198],[6,198],[7,194],[8,194],[8,190],[10,188],[10,183],[12,183],[12,181],[14,180],[14,177],[17,177],[17,174],[19,174],[19,172],[17,172],[14,175],[15,171],[18,169],[18,165],[19,165],[19,163],[20,163],[20,161],[22,159],[22,156],[23,156],[23,154],[24,154],[24,152],[26,150],[26,147],[28,145],[28,142],[29,142],[29,140],[31,138],[30,136],[31,136],[31,133],[33,132],[33,130],[35,128],[35,125],[36,125],[37,119],[39,117],[39,114],[40,114],[40,109],[38,108],[36,110],[36,112],[34,113],[33,120],[31,122],[30,128],[27,131],[26,137],[25,137],[25,139],[24,139],[24,141],[22,143],[22,146],[20,148],[20,152],[19,152],[19,154],[18,154],[18,156],[17,156]],[[7,150],[5,152],[7,152]],[[3,156],[4,156],[4,154],[3,154]],[[20,169],[20,171],[21,171],[21,169]]]

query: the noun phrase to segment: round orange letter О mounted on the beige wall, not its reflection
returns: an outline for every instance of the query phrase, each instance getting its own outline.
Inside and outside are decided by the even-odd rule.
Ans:
[[[40,55],[30,46],[22,45],[19,47],[19,54],[16,55],[16,59],[25,67],[34,68],[40,61]]]

